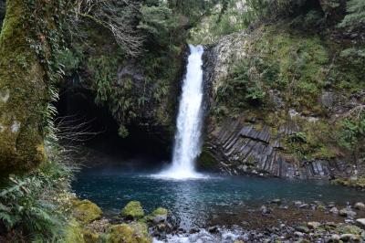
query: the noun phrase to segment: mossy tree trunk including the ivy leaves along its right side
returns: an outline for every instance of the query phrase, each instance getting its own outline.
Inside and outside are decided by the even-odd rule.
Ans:
[[[50,87],[61,77],[54,59],[63,3],[44,5],[43,0],[6,1],[0,35],[0,174],[27,172],[46,161],[49,102],[56,97]]]

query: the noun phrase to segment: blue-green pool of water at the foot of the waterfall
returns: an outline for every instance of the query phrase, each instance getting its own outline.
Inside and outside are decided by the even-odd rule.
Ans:
[[[203,179],[167,180],[151,173],[125,172],[123,166],[85,168],[73,183],[80,198],[98,204],[105,215],[119,213],[130,200],[141,201],[147,213],[158,206],[170,209],[181,227],[205,227],[214,213],[243,206],[260,206],[280,198],[339,205],[363,200],[364,194],[323,181],[289,181],[253,176],[209,174]]]

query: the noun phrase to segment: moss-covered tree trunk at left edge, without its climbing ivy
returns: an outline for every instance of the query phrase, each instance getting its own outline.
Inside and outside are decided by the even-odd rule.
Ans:
[[[15,174],[45,161],[47,82],[35,48],[32,13],[24,0],[8,0],[0,36],[0,174]],[[34,23],[33,23],[34,24]],[[41,43],[41,37],[34,43]]]

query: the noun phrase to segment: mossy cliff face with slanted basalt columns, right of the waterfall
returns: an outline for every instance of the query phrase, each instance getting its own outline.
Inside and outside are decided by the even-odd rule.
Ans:
[[[213,158],[210,166],[227,174],[362,174],[361,156],[343,144],[344,120],[364,104],[363,68],[355,68],[363,59],[346,58],[361,43],[285,22],[220,39],[205,53],[210,101],[200,163]]]

